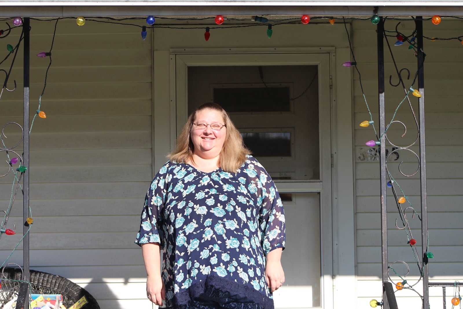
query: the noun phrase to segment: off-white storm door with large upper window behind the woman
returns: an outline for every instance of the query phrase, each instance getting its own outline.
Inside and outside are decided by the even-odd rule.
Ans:
[[[328,53],[175,58],[176,133],[200,104],[219,103],[282,196],[286,282],[275,308],[331,308],[329,71]]]

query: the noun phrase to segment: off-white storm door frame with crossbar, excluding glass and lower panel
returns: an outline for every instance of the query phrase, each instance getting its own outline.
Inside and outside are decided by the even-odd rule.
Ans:
[[[249,49],[247,49],[249,51]],[[265,50],[265,49],[264,49]],[[192,50],[181,50],[183,53],[171,55],[174,63],[172,75],[175,76],[175,85],[171,85],[171,146],[175,145],[177,132],[188,117],[188,66],[227,66],[227,65],[318,65],[319,72],[319,140],[320,140],[320,182],[313,181],[278,181],[277,188],[286,192],[320,192],[320,248],[321,248],[321,271],[323,276],[320,280],[322,290],[322,308],[333,308],[333,234],[332,234],[332,169],[331,169],[331,147],[332,147],[332,126],[331,126],[331,90],[330,77],[331,66],[329,51],[282,53],[282,52],[249,53],[210,53],[195,54]],[[332,51],[332,48],[329,48]],[[180,50],[175,50],[179,52]],[[257,51],[257,50],[256,50]],[[175,125],[173,125],[175,124]]]

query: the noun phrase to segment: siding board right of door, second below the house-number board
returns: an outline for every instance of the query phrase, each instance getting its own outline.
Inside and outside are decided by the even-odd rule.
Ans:
[[[379,164],[378,164],[379,168]],[[400,180],[400,187],[404,193],[409,195],[419,195],[420,182],[419,179],[403,179]],[[461,195],[461,190],[457,188],[463,187],[463,179],[428,179],[426,181],[427,195]],[[374,195],[379,194],[380,181],[379,179],[357,180],[356,192],[357,195]],[[400,192],[400,191],[399,191]],[[391,192],[392,194],[392,192]],[[413,201],[410,200],[410,202]]]

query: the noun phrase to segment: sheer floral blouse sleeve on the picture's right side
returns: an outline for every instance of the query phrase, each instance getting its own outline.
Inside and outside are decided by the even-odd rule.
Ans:
[[[248,163],[249,162],[249,163]],[[257,187],[257,206],[259,215],[257,224],[263,252],[267,255],[276,248],[285,247],[285,215],[282,200],[275,183],[263,166],[253,157],[244,164],[248,170],[251,184]],[[253,170],[251,173],[250,170]]]

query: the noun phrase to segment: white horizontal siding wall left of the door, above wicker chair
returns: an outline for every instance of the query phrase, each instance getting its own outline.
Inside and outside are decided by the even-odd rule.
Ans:
[[[31,20],[31,117],[50,61],[35,55],[50,50],[54,26]],[[41,100],[47,118],[36,117],[30,137],[30,268],[80,284],[100,308],[150,307],[141,250],[133,243],[153,152],[151,39],[143,41],[140,32],[58,21]],[[17,34],[13,30],[8,43],[15,44]],[[0,101],[1,126],[23,123],[22,60],[23,43],[8,82],[11,89],[15,79],[18,88],[5,90]],[[14,130],[7,145],[20,138]],[[0,178],[0,209],[8,205],[12,183],[12,173]],[[2,236],[1,262],[22,237],[22,208],[19,192],[7,225],[16,223],[17,234]],[[21,264],[21,249],[8,262]]]

